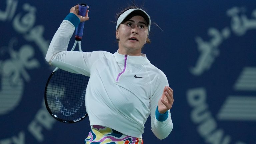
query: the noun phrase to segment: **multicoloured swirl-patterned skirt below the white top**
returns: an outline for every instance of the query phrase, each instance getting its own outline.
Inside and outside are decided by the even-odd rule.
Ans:
[[[108,127],[93,125],[85,144],[143,144],[142,138],[124,135]]]

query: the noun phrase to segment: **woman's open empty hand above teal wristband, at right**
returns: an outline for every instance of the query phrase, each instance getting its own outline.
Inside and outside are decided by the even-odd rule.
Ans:
[[[158,111],[163,114],[169,109],[172,108],[173,99],[173,90],[169,86],[164,87],[163,94],[158,101]]]

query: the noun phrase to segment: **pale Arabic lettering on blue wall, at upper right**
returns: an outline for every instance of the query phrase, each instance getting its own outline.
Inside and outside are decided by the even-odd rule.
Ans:
[[[199,76],[211,68],[215,58],[219,56],[219,45],[223,40],[230,37],[231,30],[237,36],[242,36],[249,29],[256,29],[256,10],[252,12],[252,19],[248,19],[243,13],[244,8],[233,7],[227,10],[227,15],[231,17],[231,28],[225,27],[221,32],[216,28],[209,28],[208,35],[212,37],[210,41],[204,41],[201,37],[195,38],[198,45],[197,49],[201,55],[196,62],[196,66],[190,68],[193,75]]]

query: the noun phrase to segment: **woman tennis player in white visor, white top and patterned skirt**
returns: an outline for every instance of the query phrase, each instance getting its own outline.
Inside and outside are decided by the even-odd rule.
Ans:
[[[165,74],[141,53],[150,42],[149,15],[137,7],[120,13],[116,22],[118,50],[114,54],[67,51],[75,28],[89,20],[88,12],[80,16],[78,5],[70,9],[46,55],[50,65],[90,76],[85,105],[91,131],[85,143],[143,144],[144,124],[149,115],[155,136],[166,138],[173,128],[173,90]]]

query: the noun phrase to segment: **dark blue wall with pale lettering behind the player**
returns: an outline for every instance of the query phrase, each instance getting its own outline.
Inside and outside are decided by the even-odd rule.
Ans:
[[[0,144],[84,143],[89,120],[58,122],[43,102],[53,70],[46,51],[78,3],[90,6],[83,51],[116,52],[111,21],[131,1],[1,0]],[[161,29],[151,26],[143,52],[166,74],[175,99],[171,134],[158,140],[148,120],[144,142],[256,144],[255,0],[146,0],[144,7]]]

